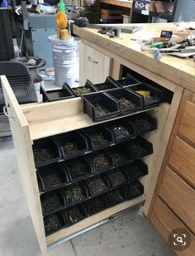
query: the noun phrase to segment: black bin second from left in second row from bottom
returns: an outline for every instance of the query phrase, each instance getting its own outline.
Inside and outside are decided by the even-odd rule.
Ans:
[[[64,197],[67,207],[81,203],[89,197],[88,188],[83,184],[83,182],[64,186],[61,188],[61,194]]]

